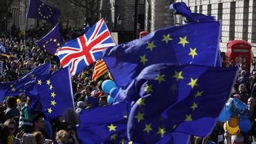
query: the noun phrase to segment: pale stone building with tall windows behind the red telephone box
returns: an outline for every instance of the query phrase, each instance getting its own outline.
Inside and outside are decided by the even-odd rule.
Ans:
[[[231,40],[245,40],[252,44],[256,56],[255,0],[179,0],[186,2],[192,12],[215,16],[221,20],[220,49],[226,52]],[[169,3],[168,3],[169,2]],[[150,32],[174,23],[169,4],[174,1],[148,0],[145,3],[145,30]],[[177,2],[177,1],[176,1]]]

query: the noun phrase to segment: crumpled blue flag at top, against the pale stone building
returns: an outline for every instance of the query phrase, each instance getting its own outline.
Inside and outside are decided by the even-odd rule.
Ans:
[[[207,15],[191,12],[185,2],[175,2],[170,5],[169,9],[174,9],[175,10],[174,14],[182,15],[184,17],[184,21],[187,23],[215,21],[215,17],[213,16],[207,16]]]

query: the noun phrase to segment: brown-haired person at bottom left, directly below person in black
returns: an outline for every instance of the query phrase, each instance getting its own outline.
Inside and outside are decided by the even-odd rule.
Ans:
[[[13,119],[7,119],[7,121],[4,122],[4,125],[9,127],[9,136],[12,139],[12,144],[20,144],[20,140],[14,137],[14,133],[16,130],[16,122]]]

